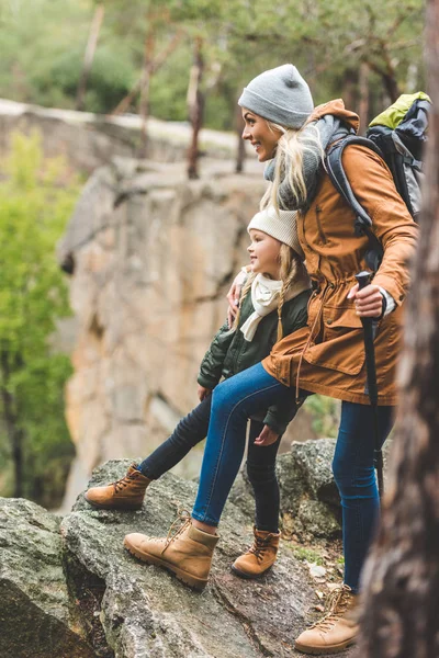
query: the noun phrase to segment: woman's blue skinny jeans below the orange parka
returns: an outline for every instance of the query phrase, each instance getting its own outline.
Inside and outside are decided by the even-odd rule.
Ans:
[[[194,519],[218,525],[243,461],[247,418],[261,408],[291,399],[291,388],[269,375],[260,363],[215,388],[199,491],[192,511]],[[392,428],[392,409],[379,407],[381,445]],[[333,470],[342,507],[345,582],[354,592],[358,591],[380,510],[373,451],[371,407],[342,402]]]

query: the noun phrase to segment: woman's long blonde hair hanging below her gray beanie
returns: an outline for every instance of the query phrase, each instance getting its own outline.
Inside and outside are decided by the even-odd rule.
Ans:
[[[290,186],[289,193],[294,197],[297,206],[301,206],[307,195],[303,171],[304,156],[315,158],[317,163],[325,158],[318,129],[312,123],[305,123],[299,129],[285,128],[270,121],[267,121],[267,125],[271,132],[278,131],[282,135],[275,149],[274,180],[261,198],[260,209],[273,205],[279,211],[280,184],[284,179]]]

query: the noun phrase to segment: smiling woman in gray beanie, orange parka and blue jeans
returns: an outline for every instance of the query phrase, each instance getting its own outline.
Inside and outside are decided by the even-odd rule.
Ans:
[[[216,526],[243,457],[244,443],[238,436],[247,417],[285,395],[299,400],[301,392],[342,400],[333,468],[342,504],[345,582],[334,594],[330,614],[295,643],[305,653],[337,653],[352,644],[358,631],[352,613],[379,513],[361,317],[380,320],[375,358],[383,444],[396,405],[401,306],[417,227],[384,162],[368,148],[356,145],[346,149],[346,173],[384,251],[373,284],[359,292],[354,275],[367,269],[369,239],[356,235],[353,213],[324,169],[325,149],[357,132],[358,116],[345,110],[342,101],[314,110],[309,89],[292,65],[255,78],[239,105],[246,122],[243,137],[252,144],[259,160],[268,162],[266,178],[271,185],[262,205],[271,202],[299,212],[299,238],[314,286],[308,322],[279,341],[262,364],[215,389],[192,519],[167,541],[143,537],[137,544],[146,561],[171,571],[182,568],[209,574],[218,540]],[[259,445],[270,445],[277,438],[275,430],[266,426]]]

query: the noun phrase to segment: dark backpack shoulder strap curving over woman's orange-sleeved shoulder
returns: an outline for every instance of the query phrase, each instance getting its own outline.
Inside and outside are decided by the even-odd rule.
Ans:
[[[376,271],[382,259],[383,248],[371,230],[372,219],[354,195],[342,166],[342,154],[345,148],[353,144],[357,144],[358,146],[365,146],[380,156],[380,158],[383,157],[380,148],[371,139],[368,139],[367,137],[359,137],[357,135],[348,135],[347,137],[331,144],[327,149],[325,159],[326,171],[337,192],[350,205],[356,215],[356,235],[367,235],[369,237],[369,240],[372,243],[372,249],[367,256],[367,261],[369,266]]]

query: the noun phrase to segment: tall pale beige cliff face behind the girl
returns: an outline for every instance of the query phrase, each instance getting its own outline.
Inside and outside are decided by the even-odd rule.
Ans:
[[[198,367],[248,260],[246,227],[263,190],[259,168],[237,177],[215,163],[189,182],[181,164],[126,159],[87,183],[59,247],[78,329],[69,501],[93,467],[147,454],[198,402]],[[194,454],[179,473],[198,473]]]

